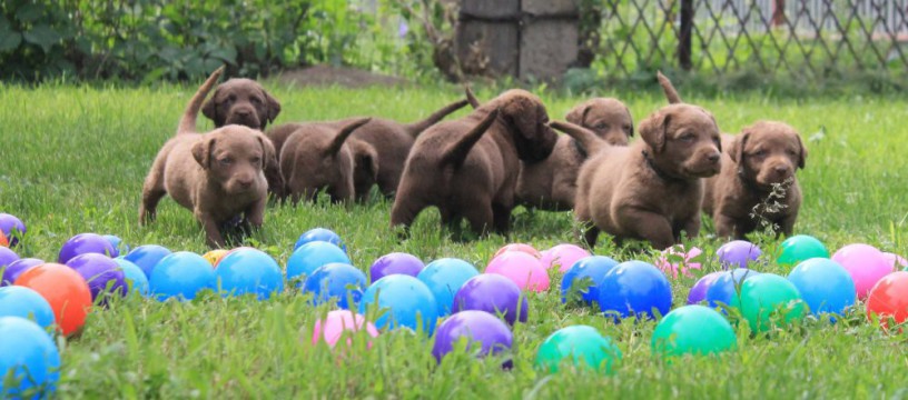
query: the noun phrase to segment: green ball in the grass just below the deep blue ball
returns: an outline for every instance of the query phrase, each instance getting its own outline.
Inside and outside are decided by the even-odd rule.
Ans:
[[[665,314],[652,337],[654,353],[668,357],[714,354],[738,346],[734,330],[718,311],[684,306]]]

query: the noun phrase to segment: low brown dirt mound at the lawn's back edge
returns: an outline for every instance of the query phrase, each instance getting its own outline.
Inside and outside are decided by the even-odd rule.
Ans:
[[[277,80],[284,84],[297,87],[308,86],[343,86],[348,88],[363,88],[369,86],[396,87],[411,84],[409,81],[373,73],[347,67],[314,66],[304,69],[287,70],[277,76]]]

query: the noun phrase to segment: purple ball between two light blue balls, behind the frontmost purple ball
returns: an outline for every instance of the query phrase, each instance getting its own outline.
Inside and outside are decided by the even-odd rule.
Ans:
[[[517,284],[495,273],[482,273],[470,278],[454,294],[451,313],[478,310],[492,314],[504,313],[504,320],[513,326],[520,320],[526,322],[530,303],[522,296]]]

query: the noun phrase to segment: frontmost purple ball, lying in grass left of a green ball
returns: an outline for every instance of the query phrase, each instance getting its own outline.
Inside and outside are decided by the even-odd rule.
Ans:
[[[462,338],[467,341],[467,351],[480,357],[510,350],[513,341],[511,329],[497,317],[485,311],[463,311],[438,326],[432,356],[442,362]]]

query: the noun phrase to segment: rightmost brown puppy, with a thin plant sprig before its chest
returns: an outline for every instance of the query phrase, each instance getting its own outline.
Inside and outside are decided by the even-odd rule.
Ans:
[[[807,159],[798,132],[782,122],[758,121],[723,142],[729,144],[722,171],[705,181],[703,198],[715,234],[743,239],[767,221],[790,236],[801,207],[794,170]],[[770,197],[773,186],[780,189],[777,197]],[[771,206],[774,202],[781,207]]]

